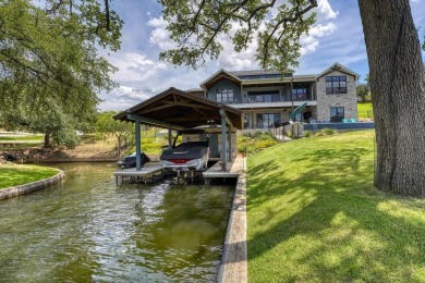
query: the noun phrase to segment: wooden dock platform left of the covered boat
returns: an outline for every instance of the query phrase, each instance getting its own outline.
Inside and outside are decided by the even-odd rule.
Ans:
[[[119,170],[113,172],[113,175],[116,176],[116,182],[118,185],[118,179],[121,176],[121,182],[123,182],[124,177],[130,177],[132,181],[136,182],[145,182],[148,183],[149,181],[155,180],[157,176],[162,175],[162,164],[159,162],[153,162],[147,164],[146,167],[142,168],[141,171],[136,171],[135,168]]]

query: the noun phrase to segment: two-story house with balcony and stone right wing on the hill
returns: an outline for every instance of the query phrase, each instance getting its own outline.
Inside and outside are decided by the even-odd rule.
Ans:
[[[240,109],[244,128],[269,128],[288,121],[306,103],[298,121],[356,119],[359,74],[339,63],[320,74],[282,76],[278,72],[220,70],[189,94]]]

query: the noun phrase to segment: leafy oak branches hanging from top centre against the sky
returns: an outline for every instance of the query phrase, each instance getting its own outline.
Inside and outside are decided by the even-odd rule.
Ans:
[[[264,69],[288,72],[298,65],[300,36],[315,22],[317,1],[186,1],[159,0],[163,19],[178,47],[160,53],[160,59],[193,69],[207,59],[217,59],[223,49],[220,36],[230,36],[236,52],[258,39],[256,59]],[[276,5],[276,7],[275,7]],[[277,8],[277,9],[276,9]],[[271,12],[271,10],[274,11]],[[239,28],[232,33],[232,24]],[[266,28],[260,28],[265,25]],[[259,32],[258,32],[259,30]]]

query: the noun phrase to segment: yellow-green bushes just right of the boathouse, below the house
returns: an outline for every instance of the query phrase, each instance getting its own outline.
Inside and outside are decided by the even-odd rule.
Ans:
[[[275,137],[268,132],[243,133],[238,136],[238,152],[244,153],[246,148],[247,153],[254,153],[259,149],[271,147],[276,144]]]

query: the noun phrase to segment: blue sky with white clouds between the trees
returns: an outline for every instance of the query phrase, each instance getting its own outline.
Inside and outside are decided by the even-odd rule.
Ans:
[[[277,2],[283,2],[278,0]],[[411,0],[411,9],[421,42],[425,36],[425,0]],[[207,67],[192,70],[159,61],[159,52],[173,47],[168,38],[161,7],[157,0],[114,0],[112,9],[124,21],[122,45],[118,52],[106,56],[119,67],[112,78],[119,87],[101,93],[100,110],[125,110],[161,91],[175,87],[198,88],[220,69],[227,71],[259,70],[255,62],[255,45],[236,53],[228,37],[221,38],[224,49]],[[361,75],[368,73],[363,27],[357,1],[318,0],[317,21],[309,34],[301,38],[300,65],[295,75],[318,74],[338,62]],[[230,41],[229,41],[230,42]],[[424,58],[424,56],[423,56]]]

